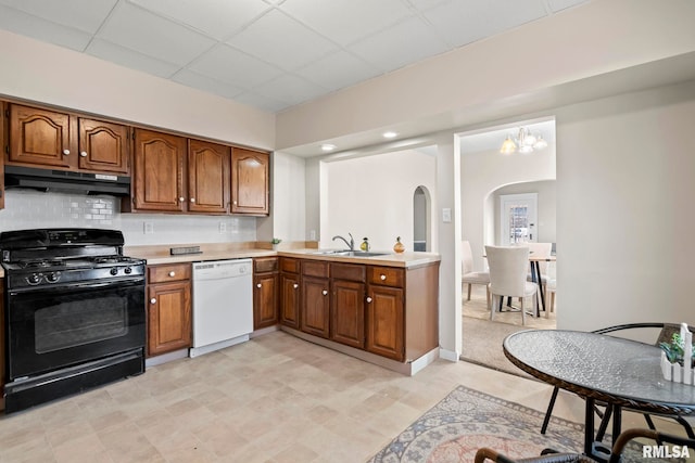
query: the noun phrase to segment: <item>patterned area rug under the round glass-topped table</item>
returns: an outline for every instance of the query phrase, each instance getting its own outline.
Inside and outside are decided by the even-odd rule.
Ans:
[[[583,425],[553,417],[544,436],[542,422],[536,410],[458,386],[369,463],[472,462],[481,447],[511,458],[535,456],[545,448],[581,452]]]

